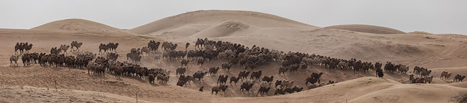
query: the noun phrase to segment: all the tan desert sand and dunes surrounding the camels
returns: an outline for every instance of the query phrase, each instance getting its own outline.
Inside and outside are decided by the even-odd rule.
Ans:
[[[46,23],[31,29],[0,29],[0,102],[183,102],[183,103],[446,103],[450,97],[465,93],[465,82],[453,82],[439,78],[442,71],[453,75],[467,74],[467,36],[461,34],[431,34],[410,32],[369,25],[338,25],[316,27],[272,14],[251,11],[208,10],[178,14],[144,24],[129,30],[110,27],[95,21],[68,19]],[[240,84],[232,84],[226,92],[211,95],[217,76],[205,76],[201,82],[191,82],[186,87],[176,86],[177,77],[171,73],[167,84],[149,84],[146,79],[134,79],[113,75],[88,75],[85,69],[66,67],[49,68],[39,64],[9,66],[8,58],[14,54],[16,42],[34,44],[30,52],[49,53],[50,48],[71,41],[83,42],[81,51],[97,53],[99,44],[118,42],[118,61],[126,61],[131,48],[147,46],[150,40],[169,41],[178,44],[177,50],[195,49],[197,38],[230,41],[251,47],[253,45],[282,50],[303,52],[368,62],[395,62],[432,70],[433,84],[410,84],[409,74],[385,74],[383,78],[370,74],[355,74],[352,70],[328,72],[315,66],[298,74],[279,76],[280,62],[260,66],[263,76],[275,76],[274,80],[294,80],[304,91],[272,96],[257,96],[259,84],[251,94],[242,93]],[[78,52],[69,52],[76,55]],[[219,60],[207,62],[202,68],[196,62],[188,64],[185,74],[198,69],[219,67]],[[179,61],[162,61],[143,57],[142,66],[175,71]],[[236,76],[238,65],[219,75]],[[311,73],[323,72],[323,81],[338,83],[306,90],[304,79]],[[57,89],[55,91],[55,82]],[[198,91],[204,86],[205,91]]]

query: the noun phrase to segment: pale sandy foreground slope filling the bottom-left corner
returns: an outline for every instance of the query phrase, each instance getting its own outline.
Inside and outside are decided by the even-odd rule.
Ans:
[[[119,96],[104,92],[82,91],[70,89],[37,88],[31,86],[1,86],[0,102],[60,102],[60,103],[131,103],[135,98]],[[138,102],[152,103],[139,99]]]

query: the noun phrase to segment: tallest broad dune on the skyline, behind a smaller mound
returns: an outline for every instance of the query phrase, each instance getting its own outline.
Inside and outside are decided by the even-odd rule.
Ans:
[[[178,14],[157,20],[140,27],[135,27],[129,32],[136,34],[159,35],[175,32],[176,29],[194,29],[192,32],[173,33],[171,36],[196,34],[196,31],[202,31],[208,27],[219,23],[236,20],[242,21],[256,27],[298,27],[298,28],[318,28],[308,24],[300,23],[272,14],[264,14],[252,11],[233,11],[233,10],[207,10],[194,11],[184,14]],[[194,27],[190,25],[205,25]],[[185,28],[185,27],[190,28]]]

